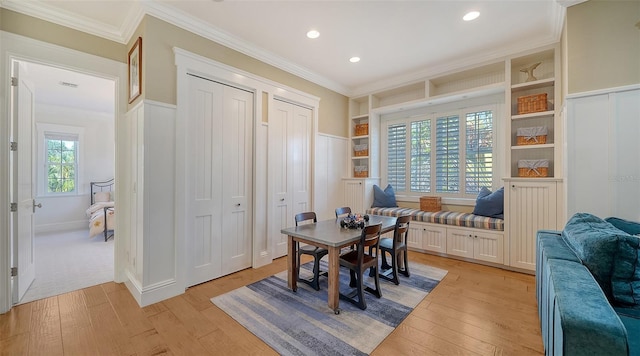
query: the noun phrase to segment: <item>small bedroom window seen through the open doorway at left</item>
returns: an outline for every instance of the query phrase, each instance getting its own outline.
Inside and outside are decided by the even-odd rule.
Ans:
[[[47,193],[76,192],[78,135],[46,132],[44,147]]]

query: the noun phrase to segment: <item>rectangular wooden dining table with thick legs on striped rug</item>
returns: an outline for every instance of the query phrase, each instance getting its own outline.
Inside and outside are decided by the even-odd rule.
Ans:
[[[309,245],[326,248],[329,251],[329,287],[328,305],[336,314],[340,313],[340,249],[351,246],[358,241],[362,235],[362,229],[349,229],[340,226],[342,219],[330,219],[318,221],[313,224],[282,229],[281,232],[287,235],[287,281],[292,291],[298,290],[298,251],[297,243],[301,242]],[[382,225],[381,234],[393,231],[396,225],[396,218],[389,216],[370,215],[367,225]]]

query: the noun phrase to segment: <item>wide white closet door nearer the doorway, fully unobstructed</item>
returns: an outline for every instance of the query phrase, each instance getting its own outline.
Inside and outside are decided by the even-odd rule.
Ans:
[[[189,283],[251,264],[252,94],[189,77]]]

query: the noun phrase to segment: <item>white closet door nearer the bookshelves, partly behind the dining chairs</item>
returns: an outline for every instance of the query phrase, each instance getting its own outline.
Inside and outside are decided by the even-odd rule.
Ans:
[[[280,230],[295,225],[294,215],[311,209],[311,109],[273,101],[269,116],[270,237],[273,258],[287,254],[287,236]]]

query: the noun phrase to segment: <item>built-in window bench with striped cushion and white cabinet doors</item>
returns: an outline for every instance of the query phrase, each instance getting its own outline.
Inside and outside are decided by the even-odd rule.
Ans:
[[[504,265],[504,220],[455,211],[428,212],[411,208],[370,208],[367,214],[411,215],[407,246],[445,257]]]

